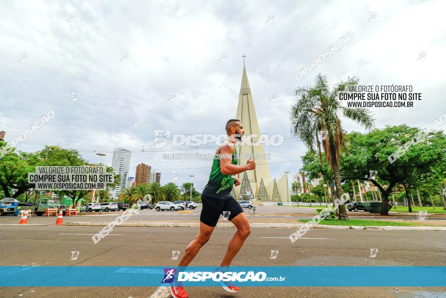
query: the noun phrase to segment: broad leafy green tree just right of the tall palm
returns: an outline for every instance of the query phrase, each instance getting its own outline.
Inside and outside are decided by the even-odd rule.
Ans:
[[[374,129],[368,134],[351,133],[342,153],[341,175],[343,180],[362,180],[373,183],[382,194],[382,215],[387,215],[389,195],[399,185],[407,190],[417,185],[419,179],[431,175],[435,167],[444,168],[446,154],[445,136],[441,132],[431,132],[426,138],[412,145],[393,163],[389,155],[420,133],[420,129],[405,124]],[[376,171],[376,177],[370,176]],[[428,176],[426,176],[428,177]],[[438,192],[440,191],[439,185]],[[402,189],[402,190],[406,190]],[[411,208],[410,196],[408,207]]]

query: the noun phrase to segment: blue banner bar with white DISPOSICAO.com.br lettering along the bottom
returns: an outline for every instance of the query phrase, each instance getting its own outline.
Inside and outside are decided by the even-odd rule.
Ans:
[[[172,271],[173,270],[173,271]],[[218,272],[218,273],[216,273]],[[219,279],[238,286],[265,287],[445,287],[444,266],[296,266],[296,267],[112,267],[2,266],[0,286],[162,286],[172,280],[184,286],[220,286]],[[163,283],[163,281],[165,281]]]

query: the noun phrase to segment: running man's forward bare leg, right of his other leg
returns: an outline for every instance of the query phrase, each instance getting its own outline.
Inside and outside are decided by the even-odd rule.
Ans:
[[[238,204],[238,203],[237,203]],[[228,250],[226,252],[225,257],[221,261],[220,266],[229,266],[234,259],[235,255],[239,252],[240,248],[242,248],[243,243],[246,238],[248,238],[251,233],[251,227],[249,225],[249,221],[246,218],[244,212],[235,216],[232,220],[232,223],[237,227],[237,231],[232,237],[231,241],[228,245]]]

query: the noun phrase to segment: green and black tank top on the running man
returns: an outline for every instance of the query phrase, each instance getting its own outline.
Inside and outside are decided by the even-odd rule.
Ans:
[[[237,150],[234,147],[234,153],[232,154],[232,164],[238,164]],[[216,198],[229,198],[231,196],[231,190],[234,186],[234,178],[232,175],[224,175],[220,169],[220,158],[215,153],[214,160],[212,161],[211,174],[209,175],[209,181],[203,189],[202,194],[212,196]]]

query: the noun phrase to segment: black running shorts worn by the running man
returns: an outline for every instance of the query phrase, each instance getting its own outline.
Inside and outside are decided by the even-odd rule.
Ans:
[[[203,208],[201,209],[200,221],[209,226],[216,226],[220,215],[232,220],[243,212],[243,208],[232,196],[229,198],[216,198],[202,195],[201,203]]]

